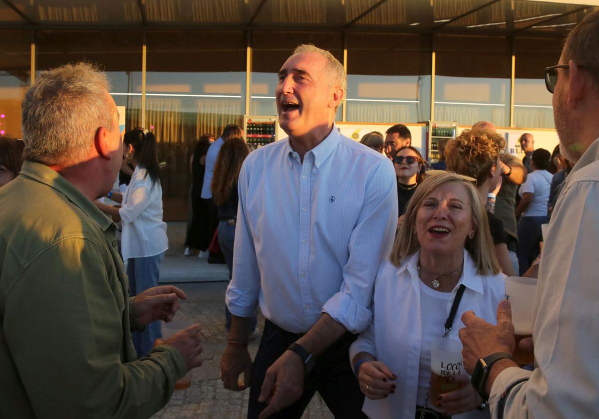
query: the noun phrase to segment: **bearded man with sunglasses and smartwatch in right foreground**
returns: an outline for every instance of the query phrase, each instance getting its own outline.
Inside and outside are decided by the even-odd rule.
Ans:
[[[489,397],[494,418],[591,418],[599,406],[599,11],[570,32],[545,81],[562,154],[576,165],[553,210],[540,261],[536,368],[525,371],[512,360],[514,328],[505,300],[497,326],[467,312],[459,332],[464,367]]]

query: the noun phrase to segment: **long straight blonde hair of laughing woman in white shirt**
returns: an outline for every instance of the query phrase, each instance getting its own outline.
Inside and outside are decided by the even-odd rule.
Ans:
[[[393,250],[391,251],[389,260],[393,265],[400,266],[401,260],[404,259],[404,257],[412,256],[420,249],[420,242],[416,235],[416,215],[418,214],[418,210],[424,199],[429,196],[432,191],[437,189],[437,187],[450,182],[455,182],[456,184],[464,186],[468,192],[468,198],[470,198],[470,207],[472,208],[471,217],[474,224],[474,237],[471,239],[466,238],[464,248],[474,260],[477,273],[479,275],[498,274],[501,272],[501,268],[499,262],[497,262],[497,257],[495,257],[486,209],[480,201],[473,184],[464,181],[458,175],[449,172],[431,175],[418,185],[416,192],[408,202],[406,217],[401,224],[400,231],[395,237]]]

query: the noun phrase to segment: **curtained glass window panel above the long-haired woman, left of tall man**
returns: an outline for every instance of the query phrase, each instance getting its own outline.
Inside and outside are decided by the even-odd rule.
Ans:
[[[194,141],[243,123],[246,33],[150,31],[146,40],[146,127],[155,133],[167,163],[164,217],[185,220]]]

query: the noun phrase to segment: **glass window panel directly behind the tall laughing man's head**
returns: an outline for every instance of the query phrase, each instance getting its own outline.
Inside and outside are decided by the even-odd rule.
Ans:
[[[250,83],[250,114],[276,115],[274,99],[277,73],[299,44],[314,44],[328,50],[343,63],[343,35],[340,32],[272,32],[252,34],[252,78]],[[341,120],[341,108],[335,120]]]

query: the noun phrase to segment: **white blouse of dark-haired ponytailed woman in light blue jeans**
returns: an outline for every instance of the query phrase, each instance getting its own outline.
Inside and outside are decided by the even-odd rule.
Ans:
[[[123,194],[121,253],[131,257],[156,256],[168,249],[167,224],[162,221],[162,187],[137,165]]]

